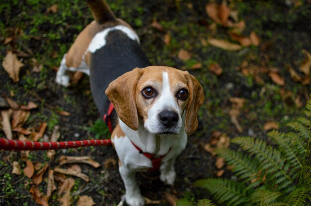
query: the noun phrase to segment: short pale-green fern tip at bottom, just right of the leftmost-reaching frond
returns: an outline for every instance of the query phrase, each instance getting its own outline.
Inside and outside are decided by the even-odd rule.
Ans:
[[[272,204],[282,193],[267,190],[258,190],[250,196],[250,202],[259,204],[260,206]]]

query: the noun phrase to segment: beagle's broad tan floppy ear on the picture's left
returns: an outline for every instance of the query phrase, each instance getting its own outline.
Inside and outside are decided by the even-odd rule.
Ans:
[[[119,118],[133,130],[138,130],[135,91],[140,77],[140,69],[135,68],[112,81],[105,92],[110,102],[113,103]]]

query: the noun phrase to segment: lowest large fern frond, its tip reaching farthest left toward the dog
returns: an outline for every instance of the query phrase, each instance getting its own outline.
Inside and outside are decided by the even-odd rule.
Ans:
[[[239,182],[228,179],[203,179],[194,183],[194,186],[208,190],[219,203],[227,206],[249,205],[245,186]]]

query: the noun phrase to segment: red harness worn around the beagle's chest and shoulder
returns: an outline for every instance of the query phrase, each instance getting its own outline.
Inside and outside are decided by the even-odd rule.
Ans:
[[[107,114],[104,115],[104,121],[106,122],[110,133],[112,133],[112,131],[113,131],[112,123],[111,123],[111,113],[113,110],[114,110],[114,106],[112,103],[110,103],[109,108],[108,108],[108,112],[107,112]],[[140,149],[139,147],[137,147],[132,141],[131,141],[131,143],[134,145],[134,147],[138,150],[138,152],[140,154],[143,154],[144,156],[146,156],[147,158],[149,158],[152,161],[152,168],[150,170],[148,170],[149,172],[158,170],[161,166],[162,158],[164,156],[166,156],[166,154],[168,154],[169,151],[171,150],[171,148],[169,148],[169,150],[166,154],[163,154],[163,155],[160,155],[160,157],[154,158],[155,154],[144,153],[143,150]]]

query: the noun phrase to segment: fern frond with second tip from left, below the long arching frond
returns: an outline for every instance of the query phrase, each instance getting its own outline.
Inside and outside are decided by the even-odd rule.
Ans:
[[[259,162],[247,154],[238,151],[233,151],[225,148],[218,148],[215,153],[226,159],[229,165],[233,165],[233,172],[239,179],[244,182],[251,182],[252,188],[263,183],[262,176],[259,171]]]

